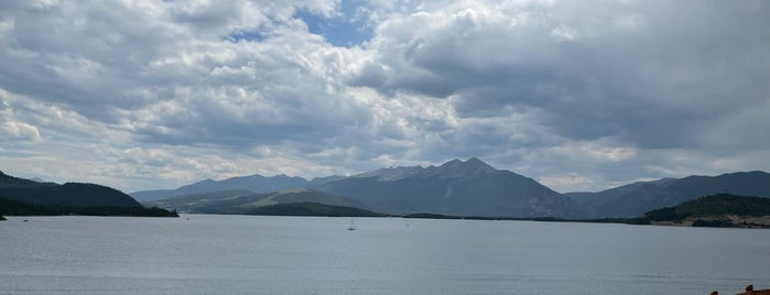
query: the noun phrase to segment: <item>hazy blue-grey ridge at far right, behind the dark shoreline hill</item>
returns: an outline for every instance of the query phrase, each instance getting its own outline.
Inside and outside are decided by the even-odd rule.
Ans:
[[[770,174],[761,171],[639,182],[597,193],[567,193],[588,217],[636,217],[698,197],[734,194],[770,197]]]

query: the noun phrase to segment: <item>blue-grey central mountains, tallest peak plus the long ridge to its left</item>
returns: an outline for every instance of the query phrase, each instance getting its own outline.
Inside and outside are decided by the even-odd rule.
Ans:
[[[260,186],[270,181],[275,183]],[[475,157],[468,161],[453,160],[441,166],[388,167],[349,177],[329,176],[303,181],[285,175],[252,175],[219,182],[204,181],[177,189],[145,190],[132,195],[142,198],[165,194],[170,197],[144,204],[177,210],[242,212],[245,206],[271,205],[264,204],[268,195],[260,192],[301,186],[312,189],[308,192],[316,196],[301,201],[357,207],[391,215],[581,216],[579,207],[567,196],[553,192],[534,179],[510,171],[496,170]],[[196,189],[195,194],[184,195]],[[216,189],[229,190],[214,192]],[[349,201],[328,201],[340,197]]]

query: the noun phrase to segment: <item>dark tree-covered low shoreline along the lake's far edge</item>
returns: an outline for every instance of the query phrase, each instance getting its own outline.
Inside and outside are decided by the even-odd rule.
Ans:
[[[217,212],[209,212],[217,214]],[[219,212],[220,214],[220,212]],[[240,212],[254,216],[314,216],[314,217],[401,217],[415,219],[519,220],[546,222],[622,223],[674,227],[762,228],[770,229],[770,199],[718,194],[682,203],[674,207],[652,210],[636,218],[558,218],[558,217],[489,217],[455,216],[431,212],[406,215],[379,214],[349,206],[333,206],[314,201],[275,204]],[[122,216],[178,217],[175,209],[161,207],[58,206],[35,205],[0,197],[2,216]]]

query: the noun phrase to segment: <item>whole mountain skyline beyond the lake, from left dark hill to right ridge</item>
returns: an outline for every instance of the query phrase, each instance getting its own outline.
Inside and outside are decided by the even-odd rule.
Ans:
[[[770,198],[770,174],[753,171],[662,178],[603,192],[560,194],[532,178],[497,170],[474,157],[440,166],[387,167],[312,181],[286,175],[206,179],[176,189],[129,196],[96,184],[59,185],[0,172],[0,197],[36,206],[143,208],[133,196],[149,206],[216,214],[246,214],[264,206],[312,203],[387,215],[633,218],[717,194]]]

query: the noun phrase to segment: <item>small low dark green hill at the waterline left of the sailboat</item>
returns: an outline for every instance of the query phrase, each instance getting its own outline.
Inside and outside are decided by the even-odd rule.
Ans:
[[[323,216],[323,217],[382,217],[384,215],[359,208],[332,206],[319,203],[303,201],[276,204],[245,211],[247,215],[264,216]]]

